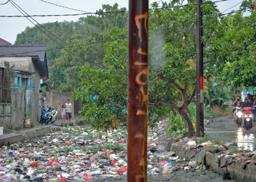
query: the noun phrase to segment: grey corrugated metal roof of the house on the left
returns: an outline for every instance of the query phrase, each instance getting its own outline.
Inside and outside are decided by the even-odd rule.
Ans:
[[[44,62],[46,45],[0,45],[0,56],[38,56]]]

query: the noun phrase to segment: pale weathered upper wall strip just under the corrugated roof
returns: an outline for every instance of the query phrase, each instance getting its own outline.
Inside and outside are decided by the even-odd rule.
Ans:
[[[10,67],[22,71],[32,71],[32,59],[29,56],[24,57],[0,57],[0,66],[4,66],[4,61],[10,62]]]

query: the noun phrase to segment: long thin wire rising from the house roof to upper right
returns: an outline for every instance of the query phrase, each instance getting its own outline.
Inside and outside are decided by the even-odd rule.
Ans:
[[[255,5],[255,6],[252,6],[252,7],[250,7],[250,8],[253,8],[253,7],[256,7],[256,5]],[[203,19],[203,21],[204,21],[204,20],[209,20],[209,19],[212,19],[212,18],[216,18],[216,17],[220,17],[220,16],[224,16],[224,15],[229,15],[229,14],[233,14],[233,13],[238,13],[238,12],[241,12],[241,11],[250,11],[250,8],[245,8],[245,9],[243,9],[243,10],[237,10],[237,11],[234,11],[234,12],[230,12],[230,13],[226,13],[226,14],[217,15],[217,16],[214,16],[214,17],[211,17],[211,18]],[[246,9],[249,9],[249,10],[246,10]],[[201,21],[201,20],[199,20],[199,21]],[[192,21],[192,22],[189,22],[189,23],[181,24],[181,25],[175,25],[175,26],[171,26],[171,27],[168,27],[168,28],[164,28],[164,29],[154,30],[154,31],[151,31],[151,32],[149,32],[149,33],[158,32],[158,31],[162,31],[162,30],[168,30],[168,29],[171,29],[171,28],[176,28],[176,27],[178,27],[178,26],[183,26],[183,25],[187,25],[187,24],[191,24],[191,23],[196,23],[196,22],[199,22],[199,21]],[[86,43],[86,44],[72,45],[72,46],[63,47],[63,48],[47,49],[47,50],[45,50],[45,51],[58,50],[58,49],[65,49],[65,48],[72,48],[72,47],[78,47],[78,46],[82,46],[82,45],[90,45],[90,44],[102,43],[102,42],[107,42],[107,41],[112,41],[112,40],[118,40],[118,39],[124,39],[124,38],[128,38],[128,37],[125,36],[125,37],[120,37],[120,38],[114,38],[114,39],[108,39],[108,40],[101,40],[101,41],[98,41],[98,42],[90,42],[90,43]],[[16,54],[27,54],[27,53],[33,53],[33,52],[39,52],[39,51],[31,51],[31,52],[16,53]],[[4,55],[0,55],[0,56],[8,56],[8,55],[15,55],[15,54],[4,54]]]

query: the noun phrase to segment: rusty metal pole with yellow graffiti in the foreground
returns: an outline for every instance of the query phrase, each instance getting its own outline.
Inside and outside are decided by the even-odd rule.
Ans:
[[[127,182],[147,181],[148,0],[129,0]]]

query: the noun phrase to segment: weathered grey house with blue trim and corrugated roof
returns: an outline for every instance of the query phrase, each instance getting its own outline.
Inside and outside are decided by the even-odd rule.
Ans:
[[[40,81],[48,79],[46,45],[0,45],[0,66],[10,67],[12,123],[9,128],[23,128],[24,113],[39,122]],[[1,123],[0,123],[1,125]]]

